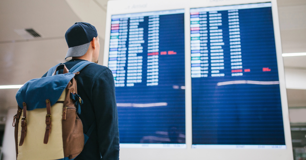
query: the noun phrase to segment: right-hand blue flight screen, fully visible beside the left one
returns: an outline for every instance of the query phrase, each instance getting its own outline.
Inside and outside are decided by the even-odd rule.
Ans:
[[[271,3],[190,9],[192,148],[285,149]]]

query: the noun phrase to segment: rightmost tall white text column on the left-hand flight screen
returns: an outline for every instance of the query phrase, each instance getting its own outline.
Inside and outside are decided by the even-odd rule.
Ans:
[[[149,16],[147,86],[158,85],[159,15]]]

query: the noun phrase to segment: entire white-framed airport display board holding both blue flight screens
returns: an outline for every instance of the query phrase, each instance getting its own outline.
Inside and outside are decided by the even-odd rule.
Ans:
[[[277,0],[111,0],[106,12],[121,158],[293,160]]]

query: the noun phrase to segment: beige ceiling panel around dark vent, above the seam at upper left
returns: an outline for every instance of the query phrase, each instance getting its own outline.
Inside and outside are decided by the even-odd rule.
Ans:
[[[0,42],[23,39],[14,29],[34,28],[43,38],[64,37],[78,18],[64,0],[1,0]]]

